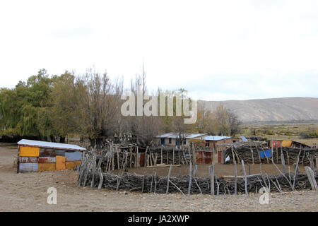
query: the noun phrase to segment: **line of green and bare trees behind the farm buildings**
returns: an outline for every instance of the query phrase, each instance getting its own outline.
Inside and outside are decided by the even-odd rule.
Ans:
[[[178,95],[182,100],[189,99],[184,89],[149,91],[145,71],[130,81],[129,90],[135,96],[138,87],[143,95],[159,97],[165,93],[174,100]],[[214,112],[199,105],[195,124],[184,124],[183,112],[182,116],[124,117],[121,114],[124,91],[122,79],[111,80],[106,72],[95,69],[77,76],[69,71],[49,76],[41,69],[15,88],[0,89],[0,135],[31,136],[61,143],[67,136],[79,136],[92,145],[107,140],[154,145],[155,136],[166,132],[177,133],[180,141],[186,133],[194,132],[234,136],[241,123],[223,105]],[[175,110],[174,101],[174,113]]]

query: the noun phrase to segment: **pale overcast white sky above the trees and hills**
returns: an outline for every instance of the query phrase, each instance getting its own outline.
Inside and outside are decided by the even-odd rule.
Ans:
[[[317,0],[0,1],[0,88],[40,69],[146,70],[199,100],[318,97]]]

